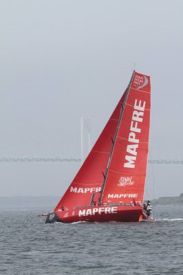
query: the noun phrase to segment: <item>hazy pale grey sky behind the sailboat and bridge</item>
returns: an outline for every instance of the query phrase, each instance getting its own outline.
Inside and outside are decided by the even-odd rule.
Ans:
[[[0,0],[0,157],[80,157],[80,116],[94,142],[136,63],[151,76],[150,156],[183,159],[182,10],[182,0]],[[62,195],[78,168],[1,162],[0,195]],[[155,197],[180,195],[182,168],[149,166],[147,195],[153,177]]]

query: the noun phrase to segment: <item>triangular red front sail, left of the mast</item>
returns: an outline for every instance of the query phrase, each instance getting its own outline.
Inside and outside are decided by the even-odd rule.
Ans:
[[[95,193],[94,201],[98,202],[104,180],[103,173],[105,173],[107,168],[107,162],[111,152],[111,138],[114,138],[116,132],[120,109],[125,100],[125,95],[126,91],[118,102],[114,113],[112,113],[100,137],[98,137],[92,151],[87,156],[87,159],[85,159],[83,166],[81,166],[72,184],[70,184],[65,195],[63,195],[61,201],[59,201],[54,212],[61,211],[62,205],[65,209],[88,206],[93,193]]]

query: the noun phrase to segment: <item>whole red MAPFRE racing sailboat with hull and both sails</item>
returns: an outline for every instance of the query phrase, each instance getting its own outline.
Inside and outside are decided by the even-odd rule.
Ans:
[[[96,144],[45,223],[153,220],[144,205],[150,108],[150,76],[133,71]]]

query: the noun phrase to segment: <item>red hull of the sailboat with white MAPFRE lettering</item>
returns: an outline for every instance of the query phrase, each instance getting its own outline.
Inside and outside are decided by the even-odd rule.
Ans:
[[[152,220],[144,213],[142,206],[92,206],[68,211],[56,211],[48,215],[46,223],[87,222],[134,222],[142,219]]]

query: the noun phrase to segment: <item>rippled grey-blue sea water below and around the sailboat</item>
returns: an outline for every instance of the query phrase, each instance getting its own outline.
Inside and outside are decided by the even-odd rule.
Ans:
[[[154,206],[155,221],[54,223],[47,209],[0,211],[0,274],[183,274],[183,206]]]

